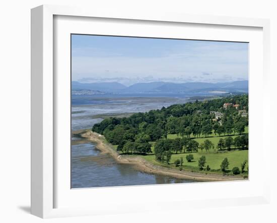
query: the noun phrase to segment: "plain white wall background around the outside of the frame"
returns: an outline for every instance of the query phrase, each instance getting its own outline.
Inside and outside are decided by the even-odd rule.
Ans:
[[[273,103],[277,62],[277,7],[274,0],[10,0],[0,4],[0,221],[41,222],[30,215],[30,9],[42,4],[78,5],[99,8],[124,8],[135,11],[179,12],[220,16],[268,18],[271,22],[271,134],[276,118]],[[274,95],[275,94],[275,95]],[[277,155],[272,143],[272,169]],[[262,166],[261,166],[262,168]],[[277,188],[272,171],[272,188]],[[48,222],[276,222],[277,196],[272,190],[269,205],[191,209],[167,213],[107,215],[48,219]]]

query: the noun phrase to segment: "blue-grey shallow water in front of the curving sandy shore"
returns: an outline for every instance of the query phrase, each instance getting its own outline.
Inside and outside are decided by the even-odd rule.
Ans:
[[[140,172],[100,154],[93,143],[72,146],[72,188],[184,183],[180,179]],[[191,182],[191,181],[190,181]]]

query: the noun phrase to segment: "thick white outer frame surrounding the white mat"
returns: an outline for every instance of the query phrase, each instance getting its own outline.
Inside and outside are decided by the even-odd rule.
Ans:
[[[79,9],[76,7],[61,7],[61,6],[39,6],[31,11],[31,213],[39,217],[61,217],[61,216],[78,216],[78,215],[93,215],[105,214],[105,209],[99,205],[95,207],[56,207],[55,193],[56,175],[54,165],[55,157],[55,140],[54,140],[54,124],[57,121],[55,114],[56,99],[55,99],[55,78],[54,78],[54,16],[75,16],[81,18],[110,18],[123,20],[136,20],[144,22],[170,22],[174,23],[189,23],[202,25],[221,25],[236,26],[243,29],[244,27],[256,27],[262,29],[262,80],[263,80],[263,107],[260,112],[262,115],[262,128],[269,129],[269,118],[265,116],[265,111],[269,110],[269,88],[266,88],[269,79],[269,21],[265,19],[247,19],[233,17],[215,17],[215,16],[195,16],[195,15],[179,15],[179,14],[147,14],[138,12],[137,14],[116,11],[101,11],[98,9]],[[251,85],[250,85],[251,87]],[[251,97],[251,96],[250,96]],[[266,134],[263,132],[262,154],[265,155],[269,149],[269,140],[266,139]],[[251,160],[250,160],[251,162]],[[269,163],[263,163],[265,169],[269,169]],[[269,171],[265,171],[263,178],[263,188],[260,193],[246,197],[232,197],[209,200],[209,206],[227,206],[227,205],[245,205],[251,203],[268,203],[269,202]],[[250,177],[251,178],[251,177]],[[251,179],[250,179],[251,181]],[[239,182],[237,182],[239,183]],[[178,185],[180,189],[183,185]],[[205,183],[206,187],[214,187],[213,183]],[[229,185],[233,186],[233,185]],[[164,185],[169,187],[168,185]],[[130,187],[128,187],[130,188]],[[151,186],[132,187],[128,190],[150,190]],[[176,188],[176,187],[175,187]],[[123,188],[106,188],[105,192],[122,191]],[[83,192],[84,194],[85,192]],[[190,202],[180,198],[180,200],[168,200],[171,203],[171,208],[185,209],[187,207],[201,207],[204,199],[195,197],[190,199]],[[207,200],[206,200],[207,201]],[[205,202],[206,202],[205,201]],[[153,210],[165,210],[166,202],[157,201],[157,206]],[[181,205],[180,205],[181,204]],[[120,208],[118,208],[120,207]],[[167,207],[168,208],[168,207]],[[117,207],[110,208],[110,213],[137,212],[150,210],[147,204],[129,205],[122,199]]]

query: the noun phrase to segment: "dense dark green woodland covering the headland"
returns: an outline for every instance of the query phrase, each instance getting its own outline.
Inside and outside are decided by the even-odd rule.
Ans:
[[[235,106],[224,108],[224,103]],[[212,100],[174,104],[167,108],[135,113],[128,118],[107,118],[95,124],[92,131],[104,135],[106,140],[118,145],[121,153],[151,153],[155,143],[158,161],[169,162],[172,153],[197,150],[248,149],[248,134],[242,134],[248,126],[248,116],[242,117],[239,110],[248,113],[248,95],[236,95]],[[216,119],[215,112],[222,114]],[[199,144],[194,138],[211,134],[230,136],[214,145],[209,139]],[[176,139],[167,139],[168,134],[177,134]]]

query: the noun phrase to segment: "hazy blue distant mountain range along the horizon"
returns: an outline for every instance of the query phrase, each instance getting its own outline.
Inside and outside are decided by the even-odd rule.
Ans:
[[[88,89],[106,93],[198,93],[198,92],[248,92],[248,81],[234,81],[226,83],[170,83],[170,82],[150,82],[137,83],[131,86],[124,86],[117,82],[105,83],[79,83],[72,82],[72,90]]]

